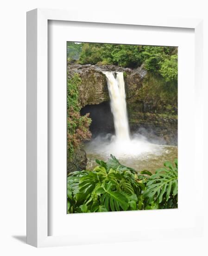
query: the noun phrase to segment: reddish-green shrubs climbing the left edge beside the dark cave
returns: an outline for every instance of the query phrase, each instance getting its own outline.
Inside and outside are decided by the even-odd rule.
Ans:
[[[82,141],[91,137],[89,114],[80,115],[78,87],[81,83],[82,80],[78,74],[67,79],[67,158],[69,161],[73,158],[74,149],[80,147]]]

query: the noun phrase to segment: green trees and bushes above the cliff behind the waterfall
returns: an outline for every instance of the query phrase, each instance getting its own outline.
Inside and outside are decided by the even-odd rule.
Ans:
[[[139,67],[144,63],[146,70],[161,75],[165,81],[177,80],[176,47],[82,43],[79,63],[121,67]]]

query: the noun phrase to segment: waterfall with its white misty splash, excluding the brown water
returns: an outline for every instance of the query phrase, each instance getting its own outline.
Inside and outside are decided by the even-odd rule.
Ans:
[[[128,116],[126,110],[126,94],[124,76],[122,72],[103,72],[107,79],[107,88],[110,96],[111,112],[115,127],[114,135],[98,135],[85,144],[85,150],[93,158],[107,161],[110,154],[123,159],[126,165],[138,161],[138,157],[149,153],[161,154],[160,145],[146,140],[142,135],[132,134],[130,139]],[[133,160],[135,159],[135,160]],[[130,162],[129,162],[130,161]],[[140,168],[140,167],[139,167]]]

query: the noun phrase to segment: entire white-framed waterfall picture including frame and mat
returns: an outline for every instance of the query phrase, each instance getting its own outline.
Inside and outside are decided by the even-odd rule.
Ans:
[[[202,34],[195,19],[27,13],[28,244],[202,235]]]

